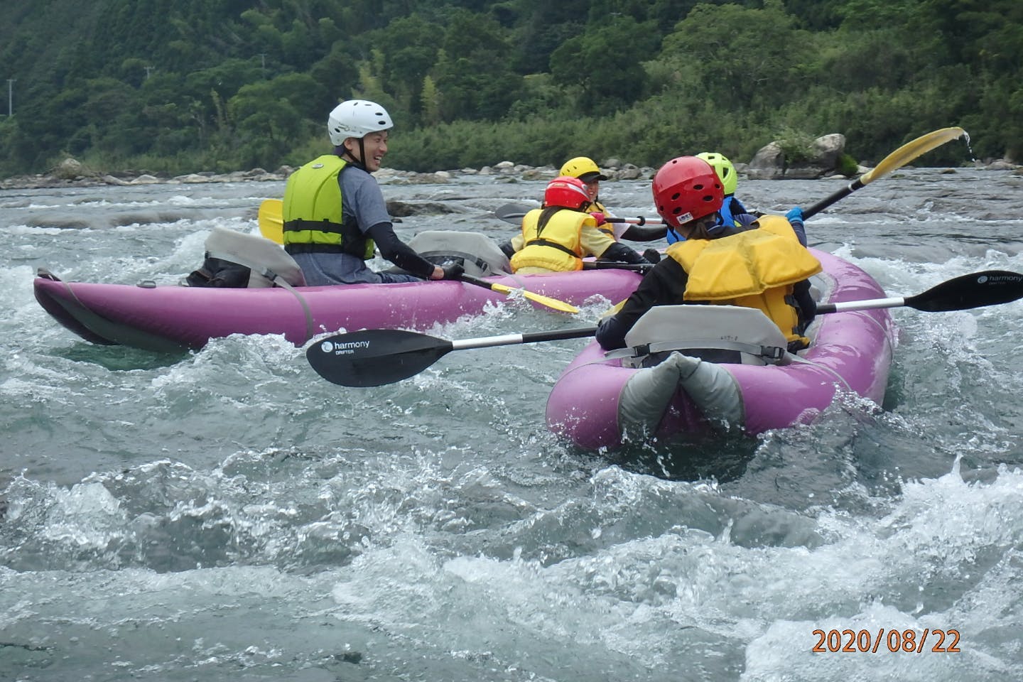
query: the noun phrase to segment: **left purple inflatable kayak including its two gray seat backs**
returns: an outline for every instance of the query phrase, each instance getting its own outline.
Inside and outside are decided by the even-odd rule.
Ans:
[[[427,329],[482,313],[488,303],[505,300],[508,288],[529,291],[510,293],[544,309],[566,310],[562,303],[575,306],[596,294],[618,302],[642,278],[618,269],[629,266],[614,264],[507,275],[507,257],[490,238],[474,232],[427,230],[409,246],[435,262],[457,259],[464,264],[465,279],[476,283],[305,286],[302,269],[279,244],[214,227],[206,239],[206,256],[250,268],[248,287],[90,284],[60,281],[40,271],[35,292],[47,313],[86,340],[178,353],[230,334],[283,334],[303,346],[317,334],[341,329]],[[503,285],[504,291],[491,290],[494,284]]]

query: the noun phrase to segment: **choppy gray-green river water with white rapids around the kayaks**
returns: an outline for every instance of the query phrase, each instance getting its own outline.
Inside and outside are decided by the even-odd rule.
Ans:
[[[784,212],[844,182],[741,181],[739,196]],[[515,228],[491,212],[542,188],[384,190],[451,212],[404,219],[406,239],[502,239]],[[653,215],[649,182],[603,189],[618,215]],[[910,295],[1023,271],[1021,189],[1006,171],[898,171],[807,233]],[[0,192],[0,679],[1023,679],[1023,302],[893,310],[881,406],[609,454],[543,421],[583,339],[343,389],[282,337],[93,346],[33,298],[39,267],[176,282],[214,226],[256,231],[282,191]],[[431,333],[583,326],[610,303],[511,302]]]

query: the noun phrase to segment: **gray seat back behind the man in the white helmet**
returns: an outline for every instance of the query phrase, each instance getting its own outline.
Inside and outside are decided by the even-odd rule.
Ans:
[[[206,253],[249,268],[250,288],[305,286],[302,268],[280,244],[255,234],[214,227],[206,238]]]

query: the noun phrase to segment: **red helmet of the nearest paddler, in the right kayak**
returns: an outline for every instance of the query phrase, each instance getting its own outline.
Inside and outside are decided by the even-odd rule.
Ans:
[[[724,188],[710,164],[696,156],[672,158],[654,176],[654,206],[671,227],[721,209]]]

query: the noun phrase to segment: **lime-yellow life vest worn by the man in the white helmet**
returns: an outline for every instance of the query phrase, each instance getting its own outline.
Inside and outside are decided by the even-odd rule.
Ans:
[[[287,178],[283,218],[284,251],[288,254],[349,254],[373,257],[373,240],[356,225],[343,224],[343,197],[338,176],[347,166],[336,154],[323,154]]]

